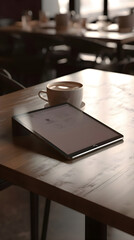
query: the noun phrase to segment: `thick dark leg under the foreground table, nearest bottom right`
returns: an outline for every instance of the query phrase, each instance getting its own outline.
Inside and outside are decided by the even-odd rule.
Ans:
[[[107,226],[85,216],[85,240],[107,240]]]

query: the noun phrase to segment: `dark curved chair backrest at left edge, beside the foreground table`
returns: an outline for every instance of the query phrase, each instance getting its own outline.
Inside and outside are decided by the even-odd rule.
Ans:
[[[11,75],[6,70],[0,69],[0,96],[24,88],[22,84],[12,79]]]

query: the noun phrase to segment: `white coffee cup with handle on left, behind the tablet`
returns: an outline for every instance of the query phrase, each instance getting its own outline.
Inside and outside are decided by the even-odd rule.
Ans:
[[[46,90],[39,91],[38,95],[50,106],[67,102],[80,107],[83,98],[83,84],[69,81],[53,82],[47,85]]]

